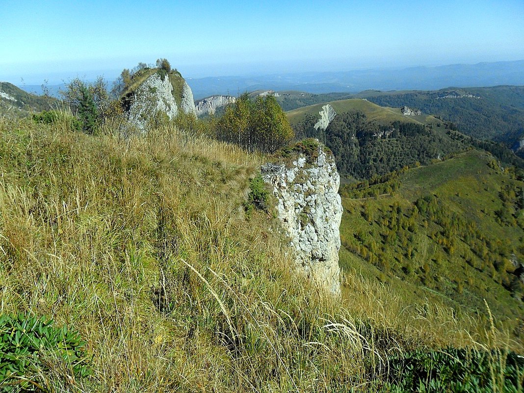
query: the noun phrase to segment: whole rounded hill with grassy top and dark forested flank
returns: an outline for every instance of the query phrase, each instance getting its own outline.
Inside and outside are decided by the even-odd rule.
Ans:
[[[337,115],[325,131],[315,129],[326,104]],[[503,144],[466,136],[455,124],[443,122],[439,117],[423,113],[407,116],[400,108],[379,106],[366,99],[306,106],[287,112],[287,116],[298,138],[321,140],[333,150],[339,170],[350,177],[370,178],[416,162],[426,165],[470,147],[489,151],[504,165],[524,168],[524,160]]]

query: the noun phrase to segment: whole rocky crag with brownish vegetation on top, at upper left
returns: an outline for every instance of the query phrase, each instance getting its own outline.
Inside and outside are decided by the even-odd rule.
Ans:
[[[129,121],[139,129],[145,129],[159,115],[173,119],[179,111],[195,113],[191,88],[178,71],[140,70],[123,95],[122,103]]]

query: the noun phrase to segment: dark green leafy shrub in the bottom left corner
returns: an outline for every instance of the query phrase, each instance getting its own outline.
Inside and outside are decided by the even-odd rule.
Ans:
[[[89,376],[85,344],[77,331],[58,328],[50,319],[0,315],[0,389],[47,391],[53,366],[69,381]]]

